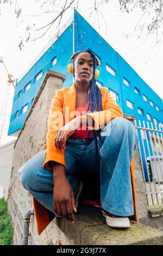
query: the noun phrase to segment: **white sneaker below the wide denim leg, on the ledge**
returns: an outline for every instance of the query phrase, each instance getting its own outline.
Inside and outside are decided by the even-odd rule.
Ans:
[[[106,215],[106,213],[102,210],[103,216],[106,218],[106,223],[111,227],[111,228],[129,228],[130,227],[130,221],[128,217],[117,217],[117,216],[112,216],[109,217]]]

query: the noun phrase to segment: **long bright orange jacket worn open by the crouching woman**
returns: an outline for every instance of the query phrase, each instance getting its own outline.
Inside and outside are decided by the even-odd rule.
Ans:
[[[108,93],[108,88],[100,87],[102,93],[102,111],[89,113],[92,118],[95,120],[95,127],[91,127],[92,129],[99,129],[104,124],[107,124],[110,120],[116,117],[123,117],[122,109],[117,105],[114,98]],[[90,92],[90,89],[89,89]],[[88,93],[89,93],[88,92]],[[69,107],[69,109],[68,109]],[[56,161],[58,163],[64,164],[65,166],[65,150],[59,151],[54,147],[54,138],[58,133],[60,127],[64,126],[66,123],[71,121],[74,118],[74,111],[76,108],[76,87],[75,83],[72,84],[71,87],[66,87],[59,89],[55,92],[55,96],[53,97],[51,109],[49,109],[49,117],[48,117],[48,132],[46,136],[47,144],[42,149],[47,149],[47,153],[45,154],[45,161],[43,162],[43,166],[46,169],[52,170],[50,166],[48,166],[49,161]],[[67,112],[68,111],[68,112]],[[54,113],[59,113],[59,115],[55,115]],[[61,113],[61,114],[60,114]],[[68,119],[69,118],[69,119]],[[58,120],[61,121],[61,124],[57,127]],[[54,129],[55,128],[55,129]],[[135,180],[134,180],[134,157],[130,166],[131,172],[131,184],[133,190],[133,203],[134,203],[134,216],[133,219],[137,221],[136,215],[136,197],[135,197]],[[35,209],[35,218],[37,224],[37,233],[40,235],[42,231],[47,227],[47,225],[51,222],[49,219],[47,209],[42,206],[35,198],[34,199],[34,209]]]

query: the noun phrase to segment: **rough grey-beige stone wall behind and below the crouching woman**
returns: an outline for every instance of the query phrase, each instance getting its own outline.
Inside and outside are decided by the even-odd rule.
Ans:
[[[14,158],[12,163],[13,176],[8,193],[8,209],[12,215],[12,220],[14,221],[15,227],[14,245],[21,244],[23,215],[27,209],[33,208],[32,196],[21,186],[20,176],[17,172],[23,163],[27,162],[31,157],[37,154],[45,145],[49,108],[51,107],[55,90],[62,88],[62,82],[64,80],[65,76],[54,71],[47,71],[47,74],[42,81],[41,87],[37,92],[33,105],[15,143]],[[133,122],[132,116],[124,115],[124,117]],[[134,160],[137,214],[139,219],[141,219],[147,217],[148,209],[137,148],[135,150]],[[73,240],[68,239],[68,236],[65,235],[65,228],[59,228],[59,225],[56,225],[56,223],[58,223],[58,221],[52,221],[46,230],[44,230],[42,234],[38,236],[35,217],[32,216],[30,220],[30,236],[28,244],[71,245]],[[66,227],[67,224],[64,224],[63,222],[60,223],[60,225]]]

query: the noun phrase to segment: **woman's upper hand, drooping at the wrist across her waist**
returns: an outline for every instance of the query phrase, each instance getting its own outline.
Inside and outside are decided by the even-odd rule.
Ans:
[[[67,139],[74,133],[76,129],[78,129],[79,125],[81,124],[81,120],[82,116],[78,116],[59,129],[54,139],[56,149],[58,148],[60,151],[62,148],[65,149]]]

